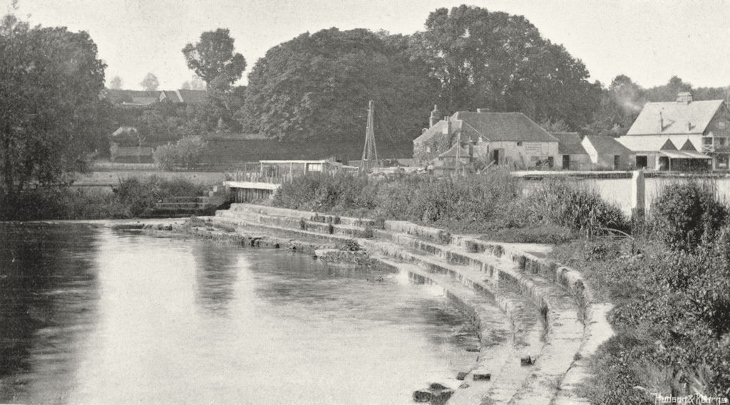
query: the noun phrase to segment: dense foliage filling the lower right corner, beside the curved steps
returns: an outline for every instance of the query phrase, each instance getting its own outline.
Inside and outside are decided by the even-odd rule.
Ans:
[[[580,240],[553,251],[616,304],[609,319],[617,334],[593,361],[588,397],[594,404],[726,403],[728,208],[711,184],[688,181],[664,189],[651,213],[633,239]]]

